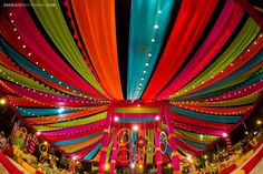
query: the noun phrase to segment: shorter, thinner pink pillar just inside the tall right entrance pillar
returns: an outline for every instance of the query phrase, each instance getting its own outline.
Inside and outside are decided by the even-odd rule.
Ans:
[[[157,174],[162,174],[162,155],[160,155],[160,147],[159,147],[159,132],[158,127],[154,130],[154,136],[155,136],[155,163],[157,165]]]

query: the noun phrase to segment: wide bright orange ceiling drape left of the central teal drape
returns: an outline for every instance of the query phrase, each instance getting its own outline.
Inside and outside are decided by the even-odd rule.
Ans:
[[[123,100],[115,23],[115,0],[71,1],[78,28],[101,84]]]

